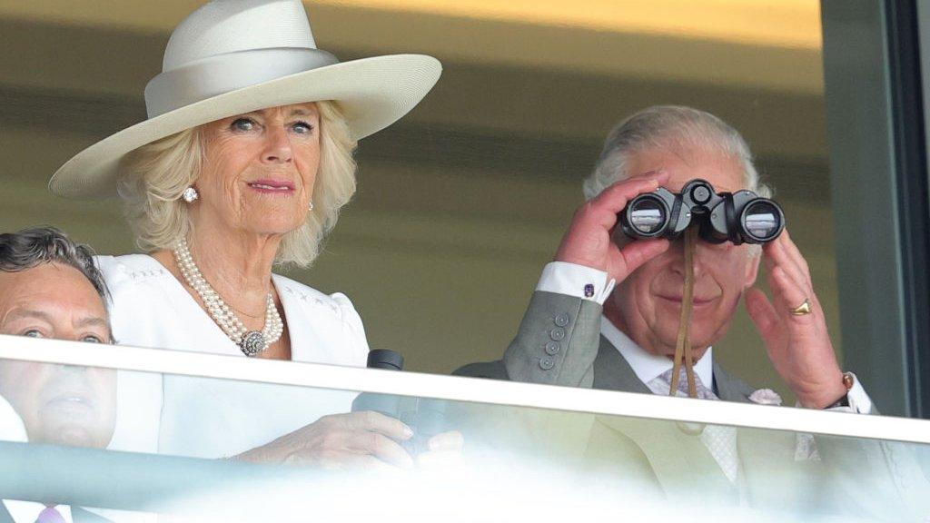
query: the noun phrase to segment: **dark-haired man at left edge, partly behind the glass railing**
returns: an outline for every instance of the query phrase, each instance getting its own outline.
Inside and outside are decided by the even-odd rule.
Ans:
[[[112,343],[107,296],[93,252],[58,229],[0,235],[0,334]],[[7,418],[20,419],[3,422],[19,429],[17,439],[105,449],[115,426],[116,373],[0,359],[0,403],[7,402],[15,411],[5,409]],[[6,521],[107,519],[77,506],[3,500]]]

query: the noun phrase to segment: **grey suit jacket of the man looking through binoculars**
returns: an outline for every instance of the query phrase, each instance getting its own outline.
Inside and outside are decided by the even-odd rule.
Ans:
[[[468,365],[456,374],[651,394],[617,348],[601,336],[601,315],[602,308],[596,302],[534,292],[503,359]],[[749,402],[752,387],[716,363],[713,374],[717,396],[725,401]],[[883,445],[818,436],[817,448],[823,460],[798,460],[793,433],[740,428],[737,451],[741,474],[733,485],[700,437],[686,425],[595,416],[579,433],[584,445],[566,448],[578,449],[587,466],[615,472],[622,469],[636,476],[632,481],[637,487],[651,484],[660,496],[674,499],[698,495],[725,504],[742,500],[751,506],[779,510],[826,507],[843,511],[851,496],[868,493],[870,499],[879,500],[901,497],[901,478],[893,477]],[[696,489],[696,485],[700,487]],[[857,516],[862,516],[860,508],[852,509]]]

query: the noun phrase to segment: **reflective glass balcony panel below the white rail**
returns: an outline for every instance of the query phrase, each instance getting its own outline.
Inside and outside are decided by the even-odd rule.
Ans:
[[[734,521],[930,515],[920,494],[930,491],[925,445],[119,371],[121,382],[150,379],[153,394],[180,386],[186,401],[163,396],[162,409],[149,409],[138,403],[145,398],[140,390],[119,389],[120,411],[133,416],[116,419],[117,432],[139,437],[133,449],[124,436],[124,449],[133,451],[114,452],[79,448],[100,446],[113,434],[112,370],[13,361],[0,361],[0,369],[3,395],[31,442],[0,444],[3,499],[65,496],[72,506],[252,521],[295,514],[552,521],[605,513],[667,520],[695,510]],[[24,401],[23,391],[42,399]],[[126,427],[146,409],[154,447],[134,432],[144,427]],[[300,438],[290,448],[310,448],[320,443],[314,422],[347,422],[352,409],[375,424],[360,432],[340,425],[347,436],[340,445],[378,439],[379,454],[319,460],[295,451],[282,459],[267,450]],[[398,421],[412,430],[393,433],[384,424]],[[50,437],[50,428],[62,436]],[[736,443],[729,457],[735,479],[724,474],[706,437],[720,432]],[[429,436],[440,434],[455,434],[458,443],[437,447]],[[266,450],[240,454],[256,447]]]

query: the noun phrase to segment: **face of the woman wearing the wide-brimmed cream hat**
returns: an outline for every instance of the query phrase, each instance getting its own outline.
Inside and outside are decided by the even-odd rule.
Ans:
[[[197,227],[284,235],[305,220],[320,166],[315,103],[263,109],[206,124],[194,187]]]

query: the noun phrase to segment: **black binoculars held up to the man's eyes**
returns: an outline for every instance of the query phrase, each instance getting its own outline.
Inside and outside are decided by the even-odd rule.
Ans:
[[[631,238],[673,240],[695,224],[701,239],[735,245],[770,242],[785,229],[785,214],[774,201],[746,190],[718,194],[703,180],[688,181],[677,194],[663,187],[640,194],[619,221]]]

